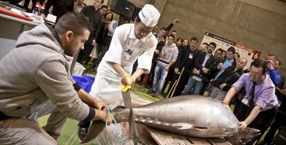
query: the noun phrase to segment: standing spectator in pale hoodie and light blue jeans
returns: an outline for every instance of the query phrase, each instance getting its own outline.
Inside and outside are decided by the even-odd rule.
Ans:
[[[165,83],[165,78],[168,75],[169,68],[178,58],[178,47],[174,43],[175,36],[172,34],[166,38],[167,43],[162,48],[155,67],[153,86],[151,91],[160,95]]]

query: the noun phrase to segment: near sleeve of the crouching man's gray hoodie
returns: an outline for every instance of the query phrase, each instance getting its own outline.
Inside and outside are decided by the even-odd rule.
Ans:
[[[91,118],[94,110],[80,100],[73,88],[73,82],[68,78],[65,64],[60,59],[46,60],[41,63],[33,74],[35,82],[55,104],[59,111],[75,120]],[[89,117],[88,117],[89,116]]]

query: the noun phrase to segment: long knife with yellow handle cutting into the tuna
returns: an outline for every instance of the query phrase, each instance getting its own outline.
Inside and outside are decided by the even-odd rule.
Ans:
[[[131,102],[131,95],[130,95],[130,88],[131,86],[122,86],[122,97],[125,107],[130,109],[129,113],[129,131],[131,133],[131,137],[133,139],[133,143],[137,145],[137,136],[136,136],[136,130],[134,126],[134,118],[133,118],[133,109],[132,109],[132,102]]]

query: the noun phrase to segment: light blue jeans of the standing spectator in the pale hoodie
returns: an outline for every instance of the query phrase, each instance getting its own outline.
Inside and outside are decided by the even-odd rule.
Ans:
[[[153,87],[152,89],[156,91],[156,93],[160,94],[162,92],[165,78],[168,74],[168,71],[164,71],[165,67],[161,65],[160,63],[157,63],[155,67],[155,73],[154,73],[154,80],[153,80]]]

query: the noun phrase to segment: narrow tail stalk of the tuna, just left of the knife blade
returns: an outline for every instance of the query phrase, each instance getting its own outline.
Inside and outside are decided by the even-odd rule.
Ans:
[[[128,122],[128,116],[129,116],[130,110],[127,109],[126,107],[116,107],[113,109],[113,116],[116,120],[117,123],[119,122]],[[115,123],[115,122],[113,122]]]

